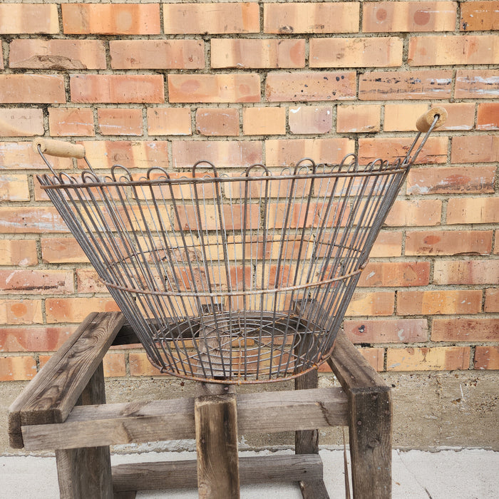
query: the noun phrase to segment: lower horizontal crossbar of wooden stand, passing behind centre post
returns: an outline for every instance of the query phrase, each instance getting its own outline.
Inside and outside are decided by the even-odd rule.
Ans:
[[[241,485],[322,479],[317,454],[239,458]],[[113,490],[160,490],[197,486],[197,461],[169,461],[113,466]]]

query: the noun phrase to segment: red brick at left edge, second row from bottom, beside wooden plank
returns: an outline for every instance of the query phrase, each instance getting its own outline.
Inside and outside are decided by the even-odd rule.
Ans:
[[[54,351],[73,333],[74,327],[0,327],[1,351]]]

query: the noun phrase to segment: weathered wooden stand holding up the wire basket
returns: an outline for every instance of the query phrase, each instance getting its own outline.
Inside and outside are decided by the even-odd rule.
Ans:
[[[122,314],[91,314],[9,409],[12,447],[55,449],[61,498],[197,486],[200,498],[232,499],[240,483],[286,480],[304,498],[327,498],[317,431],[326,426],[349,426],[354,498],[391,497],[390,389],[343,334],[328,361],[341,389],[317,388],[314,371],[295,391],[236,395],[199,384],[195,398],[106,404],[103,356],[133,341]],[[277,431],[296,431],[294,456],[238,458],[238,433]],[[111,468],[112,444],[179,438],[196,438],[197,461]]]

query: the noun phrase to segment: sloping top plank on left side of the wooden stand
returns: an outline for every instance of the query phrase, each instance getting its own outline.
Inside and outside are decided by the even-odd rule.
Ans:
[[[21,425],[65,421],[124,321],[120,312],[90,314],[51,356],[9,408],[11,446],[22,443]]]

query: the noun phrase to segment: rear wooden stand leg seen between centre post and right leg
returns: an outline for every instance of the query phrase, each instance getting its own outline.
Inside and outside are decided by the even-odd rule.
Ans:
[[[309,371],[294,379],[295,390],[314,389],[319,385],[317,370]],[[319,430],[302,430],[294,432],[295,454],[319,453]],[[301,480],[300,490],[304,499],[329,499],[323,480]]]

